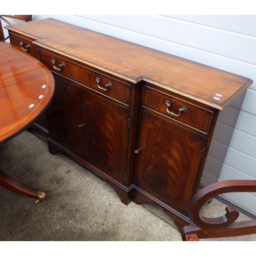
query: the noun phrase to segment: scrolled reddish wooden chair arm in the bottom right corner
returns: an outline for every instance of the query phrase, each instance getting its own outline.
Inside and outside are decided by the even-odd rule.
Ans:
[[[185,234],[195,233],[199,238],[234,237],[256,233],[256,220],[234,223],[239,217],[239,212],[233,205],[227,206],[226,214],[218,218],[206,218],[200,215],[201,207],[209,199],[232,192],[256,192],[256,180],[219,181],[201,189],[188,204],[188,213],[195,225],[181,229],[182,239],[184,240]]]

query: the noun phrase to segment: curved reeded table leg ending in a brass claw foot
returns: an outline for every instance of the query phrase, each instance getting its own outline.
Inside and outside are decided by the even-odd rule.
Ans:
[[[37,199],[36,204],[46,199],[46,194],[44,192],[40,192],[34,188],[25,186],[15,181],[11,177],[9,177],[7,174],[5,174],[1,169],[0,169],[0,185],[20,195],[36,198]]]

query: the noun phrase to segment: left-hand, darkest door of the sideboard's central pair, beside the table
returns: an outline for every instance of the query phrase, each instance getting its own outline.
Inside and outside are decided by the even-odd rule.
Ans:
[[[47,110],[50,138],[65,150],[83,157],[83,133],[79,122],[81,89],[55,75],[55,92]]]

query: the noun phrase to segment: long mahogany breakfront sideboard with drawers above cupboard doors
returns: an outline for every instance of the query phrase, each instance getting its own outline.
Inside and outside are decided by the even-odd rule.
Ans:
[[[6,28],[54,75],[36,122],[49,151],[100,175],[123,203],[159,204],[188,225],[218,114],[252,81],[52,18]]]

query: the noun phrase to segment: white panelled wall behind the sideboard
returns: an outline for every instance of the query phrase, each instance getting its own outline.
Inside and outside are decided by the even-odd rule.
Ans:
[[[33,19],[46,17],[256,81],[256,15],[33,15]],[[225,126],[225,123],[219,125]],[[225,142],[212,143],[217,157],[213,156],[214,164],[209,165],[212,169],[204,170],[202,186],[217,180],[256,179],[255,82],[246,92],[224,164],[218,174],[214,171],[214,166],[219,163],[218,145]],[[222,197],[256,216],[256,193],[229,193]]]

